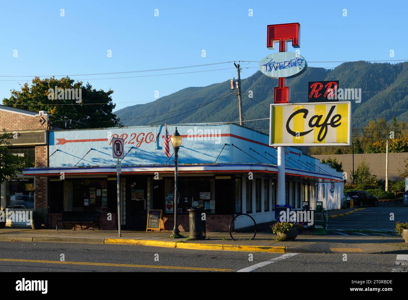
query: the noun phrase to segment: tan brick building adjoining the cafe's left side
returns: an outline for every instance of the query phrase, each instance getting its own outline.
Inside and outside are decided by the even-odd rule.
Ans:
[[[49,115],[0,105],[0,130],[13,133],[10,151],[24,158],[26,167],[48,166]],[[1,209],[37,210],[47,220],[47,177],[22,176],[7,180],[0,187]],[[9,226],[27,227],[25,222]]]

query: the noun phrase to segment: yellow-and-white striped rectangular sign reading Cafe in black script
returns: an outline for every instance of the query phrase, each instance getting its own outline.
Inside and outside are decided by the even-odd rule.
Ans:
[[[349,146],[350,102],[271,104],[271,146]]]

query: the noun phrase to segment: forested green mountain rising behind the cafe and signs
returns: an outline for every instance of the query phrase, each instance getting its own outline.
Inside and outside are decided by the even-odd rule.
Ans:
[[[352,101],[353,128],[364,128],[369,120],[379,116],[387,121],[393,116],[399,121],[408,120],[408,62],[359,61],[346,62],[334,69],[308,67],[300,76],[286,80],[290,101],[307,102],[308,82],[324,80],[339,80],[340,88],[361,88],[361,103]],[[276,86],[276,79],[260,71],[242,80],[245,120],[268,118]],[[250,91],[253,98],[248,98]],[[225,82],[206,87],[188,87],[147,104],[120,109],[115,114],[125,126],[164,122],[232,122],[239,120],[238,100],[230,92],[228,78]],[[245,126],[267,132],[269,121],[246,122]]]

